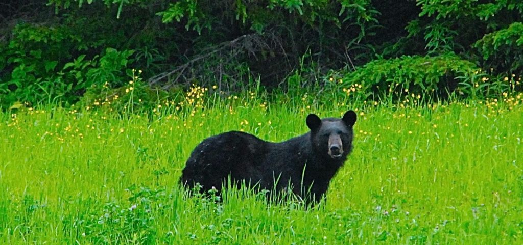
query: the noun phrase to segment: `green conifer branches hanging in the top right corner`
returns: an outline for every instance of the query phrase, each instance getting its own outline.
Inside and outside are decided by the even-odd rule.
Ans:
[[[520,1],[417,0],[419,18],[409,23],[409,37],[423,36],[430,54],[469,53],[477,36],[521,21]]]

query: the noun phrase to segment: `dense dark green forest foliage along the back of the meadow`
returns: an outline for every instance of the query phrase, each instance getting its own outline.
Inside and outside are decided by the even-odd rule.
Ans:
[[[148,87],[166,91],[190,84],[231,91],[256,80],[287,90],[323,86],[338,74],[348,78],[346,88],[372,81],[367,92],[373,93],[377,84],[387,92],[391,81],[454,92],[474,84],[478,68],[490,82],[508,77],[515,84],[523,69],[523,3],[516,0],[22,0],[5,6],[3,107],[76,103],[93,85],[121,88],[133,79],[132,68],[143,70]],[[469,95],[467,88],[460,94]],[[516,88],[504,92],[509,89]]]

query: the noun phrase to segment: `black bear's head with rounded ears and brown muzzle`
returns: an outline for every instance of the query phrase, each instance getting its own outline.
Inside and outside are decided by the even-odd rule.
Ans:
[[[354,111],[347,111],[341,119],[320,119],[315,114],[309,114],[306,123],[311,129],[315,154],[331,160],[345,161],[353,148],[353,126],[356,123]]]

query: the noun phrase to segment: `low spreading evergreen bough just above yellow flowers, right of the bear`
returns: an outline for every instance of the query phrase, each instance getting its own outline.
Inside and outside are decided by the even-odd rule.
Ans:
[[[458,76],[470,75],[477,70],[473,63],[453,53],[435,57],[402,56],[373,60],[354,72],[343,74],[341,87],[347,91],[358,84],[362,91],[377,96],[425,92],[446,96],[457,88]]]

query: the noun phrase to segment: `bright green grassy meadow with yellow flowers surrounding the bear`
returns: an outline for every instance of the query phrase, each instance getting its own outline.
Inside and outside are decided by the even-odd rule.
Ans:
[[[231,99],[231,100],[234,100]],[[260,100],[1,115],[0,244],[521,244],[523,107]],[[168,108],[166,108],[168,107]],[[234,191],[184,198],[192,148],[228,130],[282,141],[358,108],[355,149],[314,209]]]

